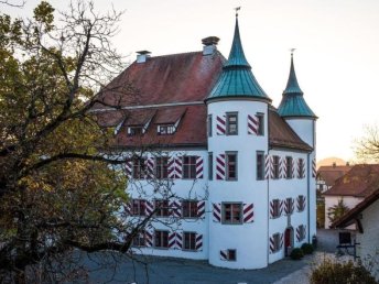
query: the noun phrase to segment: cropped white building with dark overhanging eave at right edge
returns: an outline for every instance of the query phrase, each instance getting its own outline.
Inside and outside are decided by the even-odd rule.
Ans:
[[[346,228],[356,225],[357,256],[379,280],[379,187],[368,195],[342,218],[336,220],[333,228]],[[371,266],[372,264],[372,266]]]

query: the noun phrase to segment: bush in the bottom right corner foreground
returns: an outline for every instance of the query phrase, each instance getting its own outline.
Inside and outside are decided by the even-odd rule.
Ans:
[[[378,284],[361,264],[324,260],[311,274],[311,284]]]

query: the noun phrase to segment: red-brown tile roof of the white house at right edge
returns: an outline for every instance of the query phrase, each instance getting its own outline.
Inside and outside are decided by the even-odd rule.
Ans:
[[[366,197],[379,187],[379,164],[355,165],[338,178],[325,196]]]

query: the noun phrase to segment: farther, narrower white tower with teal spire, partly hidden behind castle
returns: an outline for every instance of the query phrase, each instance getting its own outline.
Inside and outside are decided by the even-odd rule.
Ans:
[[[278,113],[290,124],[296,134],[310,146],[313,152],[307,161],[307,196],[308,196],[308,242],[316,234],[316,114],[307,106],[304,94],[299,86],[291,52],[290,76],[283,91]]]

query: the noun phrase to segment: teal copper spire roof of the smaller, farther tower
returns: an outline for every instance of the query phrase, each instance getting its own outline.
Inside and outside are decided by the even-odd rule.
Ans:
[[[306,117],[317,118],[312,109],[306,105],[303,91],[299,86],[295,68],[293,65],[293,53],[291,53],[290,76],[283,91],[282,101],[279,105],[278,112],[281,117]]]

